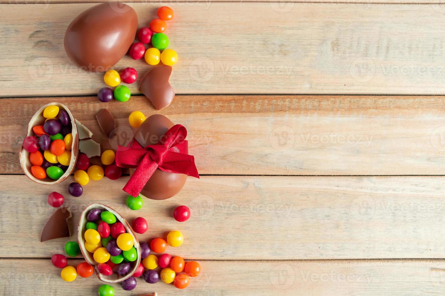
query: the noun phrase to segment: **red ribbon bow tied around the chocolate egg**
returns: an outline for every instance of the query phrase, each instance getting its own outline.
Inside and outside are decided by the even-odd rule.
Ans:
[[[186,128],[177,124],[172,126],[156,145],[142,147],[133,139],[128,147],[118,146],[116,165],[136,168],[123,190],[137,197],[156,169],[199,178],[194,157],[187,154],[186,136]]]

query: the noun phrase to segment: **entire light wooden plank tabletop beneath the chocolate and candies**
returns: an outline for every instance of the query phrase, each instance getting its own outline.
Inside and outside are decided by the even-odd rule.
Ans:
[[[132,98],[100,103],[102,75],[65,55],[65,29],[95,2],[0,0],[1,295],[97,295],[95,276],[64,282],[49,260],[76,240],[93,202],[145,217],[141,241],[181,230],[184,244],[167,252],[202,266],[183,291],[138,279],[131,292],[114,284],[116,295],[445,293],[445,4],[130,3],[139,27],[162,5],[175,13],[166,33],[177,95],[156,111],[138,92],[145,62],[122,58],[115,69],[139,73]],[[91,181],[81,197],[67,192],[73,177],[31,182],[18,152],[50,102],[67,105],[102,150],[113,149],[95,119],[102,108],[129,130],[132,111],[166,115],[186,126],[201,179],[137,212],[121,190],[128,176]],[[73,212],[72,237],[40,243],[52,191]],[[174,221],[177,205],[189,221]]]

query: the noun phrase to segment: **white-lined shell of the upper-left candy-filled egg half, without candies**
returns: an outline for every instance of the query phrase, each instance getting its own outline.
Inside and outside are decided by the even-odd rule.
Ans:
[[[58,179],[53,180],[49,177],[46,177],[44,179],[37,179],[34,177],[31,173],[31,161],[29,160],[29,152],[23,149],[23,146],[20,147],[20,166],[22,167],[23,172],[25,173],[26,177],[31,179],[32,181],[39,183],[39,184],[57,184],[65,180],[74,170],[76,167],[76,161],[77,161],[77,155],[79,154],[79,136],[77,133],[77,126],[76,122],[74,120],[73,114],[71,114],[71,111],[69,111],[68,107],[66,107],[64,104],[53,102],[46,104],[45,106],[41,107],[34,116],[32,116],[31,120],[28,123],[28,130],[27,136],[34,136],[34,132],[32,131],[32,127],[34,126],[40,126],[43,125],[45,122],[45,119],[43,117],[43,111],[48,106],[57,106],[60,110],[65,110],[66,113],[69,115],[69,120],[71,121],[71,125],[73,126],[73,129],[71,130],[71,134],[73,135],[73,144],[71,146],[71,160],[69,162],[68,169],[65,171],[65,173]],[[38,136],[36,136],[38,138]]]

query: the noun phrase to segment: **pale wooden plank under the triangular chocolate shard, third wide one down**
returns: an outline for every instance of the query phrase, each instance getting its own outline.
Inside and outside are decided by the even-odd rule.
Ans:
[[[76,239],[81,211],[94,202],[116,209],[130,223],[145,217],[142,241],[182,231],[185,242],[167,252],[195,259],[441,258],[445,230],[444,177],[225,177],[190,178],[166,201],[145,200],[139,211],[125,205],[118,181],[90,181],[81,197],[67,181],[36,185],[20,175],[0,176],[0,257],[50,257]],[[54,212],[46,198],[62,193],[73,211],[72,237],[40,243]],[[19,206],[20,205],[20,206]],[[192,218],[178,223],[178,205]],[[17,244],[17,240],[26,242]],[[14,245],[14,248],[10,248]]]

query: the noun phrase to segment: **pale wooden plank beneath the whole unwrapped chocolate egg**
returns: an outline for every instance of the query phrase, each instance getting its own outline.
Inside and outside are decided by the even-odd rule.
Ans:
[[[444,5],[167,4],[175,10],[167,34],[179,55],[170,79],[178,94],[445,93]],[[2,95],[97,93],[102,75],[74,67],[63,48],[69,22],[93,5],[2,6]],[[140,26],[160,5],[133,4]],[[139,71],[136,94],[150,67],[129,56],[115,66],[123,67]]]

